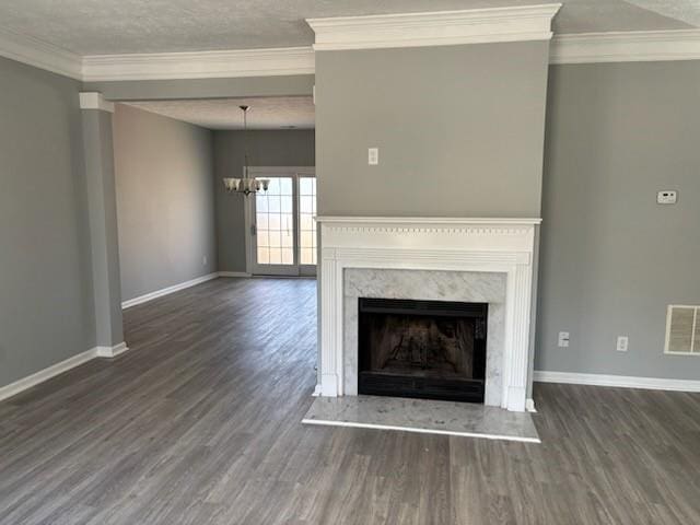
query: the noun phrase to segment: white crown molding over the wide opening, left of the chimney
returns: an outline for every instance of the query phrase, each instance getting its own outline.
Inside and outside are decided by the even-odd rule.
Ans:
[[[83,57],[82,77],[85,82],[276,77],[313,74],[314,66],[311,47],[92,55]]]

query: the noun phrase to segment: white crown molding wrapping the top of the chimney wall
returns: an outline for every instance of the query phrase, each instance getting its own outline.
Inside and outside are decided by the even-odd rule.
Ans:
[[[314,49],[376,49],[548,40],[560,3],[427,13],[307,19]]]

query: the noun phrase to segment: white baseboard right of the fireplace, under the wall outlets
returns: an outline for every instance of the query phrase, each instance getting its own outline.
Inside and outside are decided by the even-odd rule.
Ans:
[[[538,383],[567,383],[573,385],[616,386],[620,388],[646,388],[652,390],[700,392],[700,381],[665,380],[661,377],[634,377],[629,375],[579,374],[536,370]]]

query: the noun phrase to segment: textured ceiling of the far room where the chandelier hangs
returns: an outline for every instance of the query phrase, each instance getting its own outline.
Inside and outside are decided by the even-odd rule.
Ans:
[[[129,106],[209,129],[243,129],[243,112],[238,108],[243,104],[250,106],[248,129],[314,128],[314,103],[310,96],[128,103]]]

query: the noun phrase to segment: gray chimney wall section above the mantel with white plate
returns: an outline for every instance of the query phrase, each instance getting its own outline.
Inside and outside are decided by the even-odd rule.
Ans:
[[[547,63],[545,42],[317,52],[319,213],[539,217]]]

